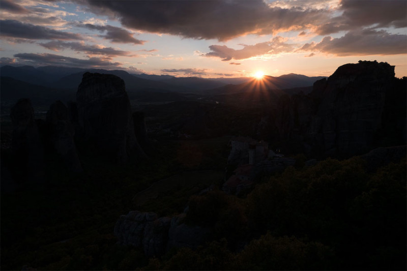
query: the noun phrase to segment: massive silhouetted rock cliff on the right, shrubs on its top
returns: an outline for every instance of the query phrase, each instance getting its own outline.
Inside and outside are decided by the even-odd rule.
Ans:
[[[281,97],[275,139],[324,156],[405,144],[405,93],[405,80],[394,77],[394,66],[343,65],[328,80],[316,81],[309,95]]]

